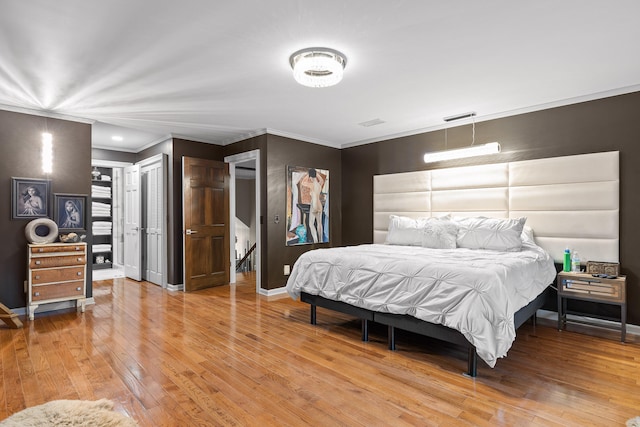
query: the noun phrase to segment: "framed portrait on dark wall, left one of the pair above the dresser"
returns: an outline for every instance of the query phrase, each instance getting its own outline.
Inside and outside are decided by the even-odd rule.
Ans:
[[[51,180],[11,178],[11,218],[49,217]]]

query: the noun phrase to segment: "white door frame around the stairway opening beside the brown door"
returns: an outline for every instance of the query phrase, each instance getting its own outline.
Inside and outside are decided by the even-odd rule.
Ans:
[[[255,257],[255,269],[256,269],[256,293],[261,293],[262,282],[262,244],[260,236],[262,235],[261,218],[261,193],[260,193],[260,150],[251,150],[244,153],[234,154],[233,156],[227,156],[224,158],[225,163],[229,163],[229,238],[231,241],[234,239],[231,236],[236,235],[236,163],[243,163],[247,160],[255,160],[256,162],[256,257]],[[231,242],[230,242],[231,243]],[[235,260],[235,245],[229,245],[229,259]],[[231,263],[231,271],[229,275],[230,283],[236,283],[236,266],[235,262]]]

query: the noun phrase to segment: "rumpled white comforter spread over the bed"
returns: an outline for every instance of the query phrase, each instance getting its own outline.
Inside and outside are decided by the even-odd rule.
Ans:
[[[287,292],[448,326],[494,367],[515,339],[514,313],[555,275],[551,257],[530,242],[520,252],[362,245],[304,253]]]

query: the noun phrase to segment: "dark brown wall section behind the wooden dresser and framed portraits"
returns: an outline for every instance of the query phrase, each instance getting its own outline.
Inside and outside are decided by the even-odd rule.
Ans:
[[[42,132],[53,135],[53,193],[91,192],[91,125],[28,114],[0,111],[0,302],[9,308],[25,307],[23,283],[27,275],[27,239],[24,227],[29,220],[11,219],[11,177],[47,178],[42,173],[40,152]],[[51,205],[52,206],[52,205]],[[88,204],[90,209],[91,204]],[[53,210],[51,210],[53,218]],[[91,215],[87,215],[91,229]],[[88,242],[89,248],[91,242]],[[91,254],[87,257],[91,259]],[[87,270],[87,295],[92,295],[91,269]]]

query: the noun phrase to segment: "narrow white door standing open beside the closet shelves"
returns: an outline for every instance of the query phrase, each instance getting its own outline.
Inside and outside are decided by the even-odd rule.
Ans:
[[[140,166],[124,168],[124,274],[142,280]]]

